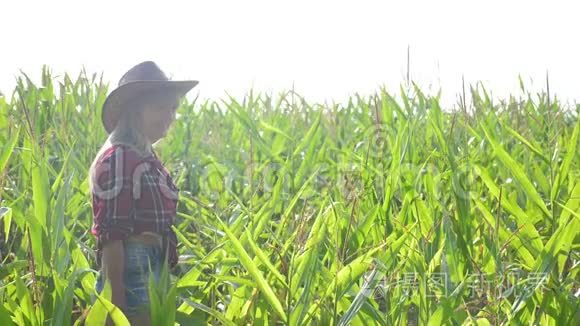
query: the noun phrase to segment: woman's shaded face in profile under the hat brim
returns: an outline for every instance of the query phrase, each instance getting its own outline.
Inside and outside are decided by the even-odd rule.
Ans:
[[[151,143],[165,137],[171,123],[175,120],[177,99],[164,101],[163,104],[147,104],[143,108],[143,132]]]

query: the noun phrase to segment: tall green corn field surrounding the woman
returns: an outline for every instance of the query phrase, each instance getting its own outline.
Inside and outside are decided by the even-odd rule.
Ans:
[[[128,324],[94,288],[107,88],[45,67],[0,96],[0,325]],[[184,100],[156,145],[180,262],[153,324],[579,324],[580,106],[467,93]]]

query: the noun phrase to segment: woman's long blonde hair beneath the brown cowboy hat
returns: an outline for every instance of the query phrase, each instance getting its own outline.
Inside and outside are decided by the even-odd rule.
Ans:
[[[124,108],[117,121],[115,129],[109,134],[105,143],[101,146],[91,166],[89,168],[89,189],[92,191],[93,178],[95,173],[95,166],[101,155],[113,145],[126,145],[143,157],[150,155],[153,152],[150,140],[143,132],[143,119],[140,114],[146,105],[163,105],[168,101],[175,100],[173,93],[156,91],[143,94],[133,99]]]

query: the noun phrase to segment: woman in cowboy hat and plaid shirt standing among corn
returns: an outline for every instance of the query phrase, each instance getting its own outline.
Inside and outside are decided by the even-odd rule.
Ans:
[[[96,290],[110,281],[113,304],[135,325],[150,323],[149,274],[158,280],[163,264],[177,264],[171,225],[178,190],[152,144],[165,136],[179,100],[197,84],[171,81],[146,61],[123,75],[103,105],[109,137],[89,171]]]

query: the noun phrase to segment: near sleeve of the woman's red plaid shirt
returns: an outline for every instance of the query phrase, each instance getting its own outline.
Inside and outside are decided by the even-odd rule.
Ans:
[[[95,167],[93,233],[99,248],[106,241],[126,239],[134,231],[133,174],[137,163],[136,153],[117,147]]]

